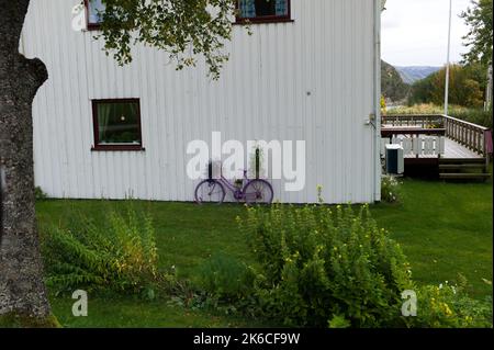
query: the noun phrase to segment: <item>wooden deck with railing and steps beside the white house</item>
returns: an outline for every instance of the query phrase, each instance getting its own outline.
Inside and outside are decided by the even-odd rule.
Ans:
[[[492,155],[487,128],[446,115],[384,115],[383,143],[401,144],[405,174],[486,179]]]

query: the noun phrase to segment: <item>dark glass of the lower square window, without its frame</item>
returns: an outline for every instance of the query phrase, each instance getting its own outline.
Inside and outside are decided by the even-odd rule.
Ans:
[[[99,102],[99,144],[141,145],[138,110],[137,102]]]

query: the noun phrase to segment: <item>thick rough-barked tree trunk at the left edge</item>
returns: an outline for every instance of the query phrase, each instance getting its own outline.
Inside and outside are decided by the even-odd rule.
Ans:
[[[19,54],[29,0],[0,0],[0,316],[46,319],[35,217],[32,103],[45,65]]]

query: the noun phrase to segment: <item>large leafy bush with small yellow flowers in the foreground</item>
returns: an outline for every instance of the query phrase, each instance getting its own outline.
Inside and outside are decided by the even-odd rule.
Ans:
[[[367,206],[249,207],[240,228],[260,264],[255,294],[265,317],[303,327],[400,321],[409,266]]]

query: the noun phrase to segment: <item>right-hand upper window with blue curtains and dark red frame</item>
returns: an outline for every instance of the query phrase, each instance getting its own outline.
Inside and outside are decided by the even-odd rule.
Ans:
[[[238,0],[237,22],[290,21],[290,0]]]

